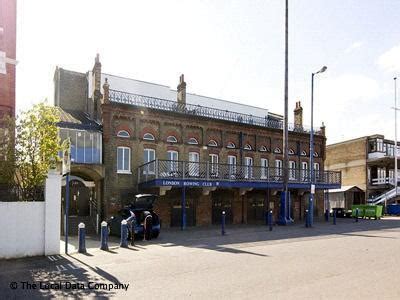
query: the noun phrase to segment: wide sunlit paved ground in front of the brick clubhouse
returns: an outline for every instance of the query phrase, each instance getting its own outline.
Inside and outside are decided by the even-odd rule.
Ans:
[[[163,229],[87,254],[0,260],[0,298],[400,299],[400,218]]]

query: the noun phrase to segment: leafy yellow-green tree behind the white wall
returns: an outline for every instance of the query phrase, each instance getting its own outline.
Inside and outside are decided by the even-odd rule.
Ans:
[[[22,201],[36,201],[42,198],[47,173],[59,161],[59,121],[59,111],[45,103],[34,105],[17,118],[14,178]]]

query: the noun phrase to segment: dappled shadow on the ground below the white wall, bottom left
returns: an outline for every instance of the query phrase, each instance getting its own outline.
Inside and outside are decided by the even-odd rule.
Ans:
[[[0,260],[0,270],[2,299],[108,299],[115,296],[115,285],[121,284],[110,273],[91,267],[74,256],[54,255]],[[11,289],[12,283],[16,283],[16,289]]]

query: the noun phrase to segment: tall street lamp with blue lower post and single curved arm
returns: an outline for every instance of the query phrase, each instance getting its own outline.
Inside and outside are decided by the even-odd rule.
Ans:
[[[308,203],[308,211],[309,211],[309,226],[313,225],[313,214],[314,214],[314,193],[315,193],[315,184],[314,184],[314,75],[323,73],[327,69],[326,66],[323,66],[321,70],[311,73],[311,130],[310,130],[310,201]]]

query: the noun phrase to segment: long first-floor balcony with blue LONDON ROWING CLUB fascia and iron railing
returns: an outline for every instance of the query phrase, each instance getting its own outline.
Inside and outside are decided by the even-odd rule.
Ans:
[[[340,188],[341,173],[316,171],[314,182],[319,189]],[[283,169],[157,159],[138,168],[138,183],[141,187],[282,188]],[[309,189],[309,171],[289,169],[289,188]]]

